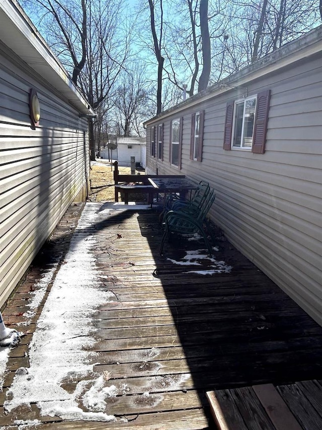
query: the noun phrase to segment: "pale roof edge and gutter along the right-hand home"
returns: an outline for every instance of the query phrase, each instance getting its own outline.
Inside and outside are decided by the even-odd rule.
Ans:
[[[311,55],[322,53],[322,25],[311,30],[305,35],[295,39],[274,52],[258,59],[255,63],[245,67],[222,81],[206,88],[204,91],[188,98],[187,100],[167,109],[143,123],[144,127],[169,115],[181,111],[186,107],[205,101],[224,92],[236,89],[236,87],[247,86],[255,79],[264,77],[269,73],[276,72],[283,67],[305,59]]]

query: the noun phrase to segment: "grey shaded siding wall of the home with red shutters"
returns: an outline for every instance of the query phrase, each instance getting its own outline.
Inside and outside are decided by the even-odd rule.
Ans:
[[[227,102],[266,89],[271,90],[266,152],[225,151]],[[210,182],[217,194],[210,212],[214,222],[322,324],[322,56],[298,60],[238,91],[231,88],[200,105],[187,103],[167,120],[160,117],[165,148],[167,124],[183,114],[180,173]],[[189,159],[191,114],[200,109],[205,109],[202,163]],[[148,166],[155,171],[155,160],[148,159]],[[158,163],[158,172],[174,169]]]

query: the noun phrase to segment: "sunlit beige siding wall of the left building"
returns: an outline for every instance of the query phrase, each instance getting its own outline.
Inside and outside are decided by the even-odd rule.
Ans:
[[[41,118],[31,127],[29,90]],[[87,119],[0,47],[0,306],[66,209],[87,195]]]

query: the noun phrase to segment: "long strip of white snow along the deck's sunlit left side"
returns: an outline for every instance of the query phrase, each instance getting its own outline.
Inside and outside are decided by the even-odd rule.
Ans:
[[[8,412],[22,404],[37,403],[41,415],[115,420],[113,415],[105,413],[104,398],[111,393],[111,387],[108,381],[93,374],[93,364],[89,363],[94,353],[85,350],[96,342],[92,323],[95,310],[113,297],[98,288],[100,274],[91,254],[96,240],[86,231],[97,216],[86,208],[82,213],[39,317],[29,349],[30,367],[17,370],[7,394]],[[87,380],[82,380],[84,377]],[[72,393],[61,386],[77,380],[81,382]],[[86,405],[85,410],[78,401]]]

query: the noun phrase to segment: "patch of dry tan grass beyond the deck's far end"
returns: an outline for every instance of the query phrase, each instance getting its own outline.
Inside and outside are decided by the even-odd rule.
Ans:
[[[114,170],[114,166],[113,166]],[[114,202],[114,180],[111,164],[92,163],[90,171],[91,192],[88,200],[92,202]],[[119,172],[130,174],[130,167],[120,167]]]

